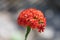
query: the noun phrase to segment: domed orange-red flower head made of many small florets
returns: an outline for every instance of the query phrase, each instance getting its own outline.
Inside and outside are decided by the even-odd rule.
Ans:
[[[34,8],[22,11],[17,21],[19,25],[30,26],[32,29],[38,29],[39,32],[43,32],[46,26],[46,18],[43,13]]]

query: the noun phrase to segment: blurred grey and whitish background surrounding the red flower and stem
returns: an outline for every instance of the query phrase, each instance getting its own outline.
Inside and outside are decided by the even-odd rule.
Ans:
[[[24,40],[26,28],[17,17],[30,7],[44,13],[47,26],[43,33],[32,30],[27,40],[60,40],[60,0],[0,0],[0,40]]]

